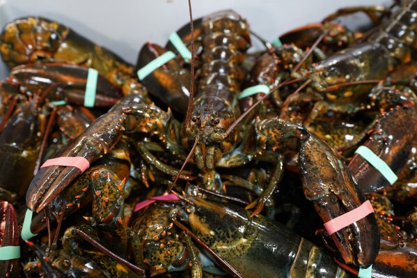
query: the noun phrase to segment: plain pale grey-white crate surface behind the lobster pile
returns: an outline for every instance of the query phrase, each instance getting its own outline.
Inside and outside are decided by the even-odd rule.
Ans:
[[[251,29],[268,40],[307,23],[320,22],[337,8],[386,3],[385,0],[199,0],[194,18],[233,9]],[[389,3],[389,1],[388,1]],[[0,0],[0,27],[18,17],[39,15],[61,22],[130,63],[146,41],[164,45],[168,36],[189,22],[187,0]],[[0,79],[7,70],[0,61]]]

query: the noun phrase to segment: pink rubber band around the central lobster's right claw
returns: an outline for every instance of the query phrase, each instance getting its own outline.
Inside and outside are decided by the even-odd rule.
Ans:
[[[324,223],[324,228],[326,228],[327,233],[331,235],[332,233],[335,233],[336,231],[345,228],[345,226],[349,226],[350,224],[361,220],[363,217],[373,212],[374,208],[372,208],[372,205],[368,200],[361,204],[358,208],[349,211],[349,213],[345,213],[344,215],[340,215],[339,217]]]

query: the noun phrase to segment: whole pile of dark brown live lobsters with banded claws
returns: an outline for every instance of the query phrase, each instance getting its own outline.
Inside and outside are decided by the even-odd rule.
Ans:
[[[416,18],[347,8],[271,44],[226,10],[136,65],[10,22],[0,276],[414,277]]]

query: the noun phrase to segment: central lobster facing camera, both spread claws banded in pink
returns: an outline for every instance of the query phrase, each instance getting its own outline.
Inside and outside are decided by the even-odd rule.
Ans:
[[[228,15],[228,13],[226,13],[226,15]],[[220,13],[220,15],[223,16],[224,13]],[[213,20],[214,22],[211,22],[210,25],[217,26],[217,24],[219,24],[221,28],[223,28],[222,24],[228,26],[227,22],[233,22],[233,24],[237,22],[237,25],[232,26],[235,26],[234,28],[237,28],[237,30],[240,30],[239,28],[245,30],[245,28],[242,27],[244,25],[239,22],[239,17],[228,15],[226,22],[223,22],[222,16],[219,18],[218,15],[213,15],[212,17],[208,17],[207,22]],[[203,40],[203,42],[210,44],[213,38],[214,42],[216,42],[215,38],[224,38],[225,36],[224,33],[209,33],[207,40]],[[239,45],[246,47],[244,36],[237,36],[237,38],[239,38]],[[226,43],[228,41],[225,39],[222,40],[226,41]],[[223,47],[214,48],[219,49],[219,54],[223,52]],[[205,52],[203,52],[203,56],[209,56],[204,53]],[[217,52],[214,52],[213,55],[216,57],[218,54]],[[271,196],[276,184],[281,180],[284,162],[283,144],[289,139],[296,138],[301,144],[299,151],[300,157],[304,157],[300,159],[302,162],[300,162],[299,165],[306,186],[306,196],[315,201],[315,204],[317,205],[316,208],[319,210],[322,219],[328,221],[333,217],[343,214],[345,211],[358,207],[361,204],[361,201],[363,201],[363,198],[358,192],[355,192],[354,183],[343,162],[338,158],[338,155],[322,143],[320,139],[317,139],[317,137],[307,132],[307,130],[301,126],[291,125],[278,118],[258,121],[254,128],[249,129],[248,133],[250,134],[242,141],[236,151],[230,151],[230,148],[237,144],[237,132],[233,132],[234,125],[226,116],[233,115],[233,106],[230,106],[229,104],[230,102],[233,104],[233,100],[236,100],[237,96],[230,95],[230,99],[227,102],[224,102],[216,95],[211,95],[211,93],[208,92],[212,92],[210,91],[212,88],[215,88],[214,92],[217,90],[222,91],[223,89],[227,92],[229,89],[226,88],[233,88],[234,90],[235,87],[237,87],[237,83],[232,79],[231,83],[226,83],[225,85],[219,85],[219,87],[217,87],[217,85],[211,86],[210,83],[207,82],[211,79],[216,79],[217,77],[226,78],[227,80],[227,76],[223,77],[222,75],[214,73],[212,75],[211,70],[214,70],[217,66],[231,68],[230,63],[235,60],[238,60],[238,58],[231,56],[230,62],[228,61],[225,65],[216,59],[213,59],[212,62],[207,65],[203,65],[203,69],[207,68],[208,70],[206,76],[203,75],[203,81],[200,83],[202,96],[196,100],[196,109],[192,112],[190,109],[190,112],[187,113],[185,121],[186,125],[185,128],[182,128],[184,132],[191,134],[190,141],[194,140],[194,147],[191,148],[191,153],[194,153],[194,160],[197,167],[203,169],[203,171],[207,171],[214,169],[214,167],[223,167],[223,165],[226,167],[233,167],[255,159],[264,159],[275,163],[278,161],[269,187],[262,193],[262,196],[260,196],[258,201],[255,201],[248,206],[248,208],[256,207],[255,212],[253,213],[253,215],[256,215],[260,213],[265,201]],[[203,70],[203,72],[205,72],[205,70]],[[239,72],[235,72],[235,74],[239,75]],[[205,77],[208,79],[206,80]],[[225,87],[223,88],[223,86]],[[207,93],[206,91],[203,91],[202,88],[207,89]],[[190,91],[193,90],[191,89]],[[207,102],[205,101],[205,98],[207,98]],[[135,102],[136,105],[134,105]],[[207,107],[205,105],[207,105]],[[219,105],[219,107],[223,107],[224,109],[222,111],[213,111],[212,108],[216,107],[216,105]],[[129,95],[120,100],[109,113],[98,118],[84,134],[81,134],[80,137],[74,140],[72,145],[65,148],[65,150],[61,152],[61,155],[81,156],[88,160],[88,162],[93,162],[101,155],[107,153],[107,151],[120,139],[123,132],[132,131],[156,134],[166,145],[166,148],[173,152],[178,152],[178,149],[180,149],[178,148],[180,141],[189,144],[189,139],[180,140],[178,130],[181,130],[181,128],[179,128],[178,124],[179,123],[173,119],[173,116],[170,113],[166,113],[162,111],[162,109],[150,104],[149,100],[145,97],[141,95]],[[203,127],[203,129],[194,130],[193,127]],[[226,132],[226,128],[229,128],[232,132]],[[98,130],[100,130],[100,132]],[[198,142],[200,142],[200,144],[198,144]],[[219,142],[219,144],[217,144],[217,142]],[[315,150],[315,148],[317,148],[318,151]],[[229,152],[221,157],[221,153],[226,150],[229,150]],[[264,153],[264,155],[262,155],[262,153]],[[330,157],[330,160],[328,157]],[[321,160],[322,163],[326,165],[324,168],[329,171],[320,173],[320,171],[315,169],[315,159]],[[334,165],[341,166],[334,167]],[[317,173],[317,176],[308,176],[308,170],[312,170],[311,173]],[[28,207],[39,213],[40,210],[52,202],[63,188],[68,186],[74,178],[79,176],[80,173],[81,171],[79,169],[72,167],[57,166],[41,169],[33,179],[26,194],[26,203]],[[336,178],[336,176],[338,178]],[[340,180],[340,183],[334,185],[335,187],[331,189],[329,185],[322,186],[319,183],[319,180],[331,180],[331,183],[333,183],[333,179]],[[317,192],[310,192],[310,190],[317,190]],[[336,195],[333,195],[332,193],[339,191],[343,192],[343,194],[349,192],[349,194],[340,196],[337,193]],[[315,196],[316,193],[317,195]],[[324,200],[327,198],[334,200],[334,203],[337,203],[337,205],[322,209],[321,206],[326,203]],[[337,199],[343,200],[344,198],[349,199],[349,201],[340,201],[340,203],[336,201]],[[375,227],[376,230],[375,219],[372,219],[372,217],[373,216],[370,215],[369,217],[362,219],[360,224],[357,224],[359,232],[355,233],[354,239],[347,236],[349,228],[338,233],[338,238],[345,238],[345,240],[343,240],[344,243],[339,243],[338,245],[340,250],[343,250],[345,261],[349,263],[354,262],[362,266],[367,266],[372,263],[379,244],[376,234],[370,233],[373,229],[372,227]],[[334,235],[334,237],[336,239],[336,235]],[[349,244],[347,244],[348,242]],[[354,252],[352,252],[353,249],[363,250],[363,252],[354,254]]]

